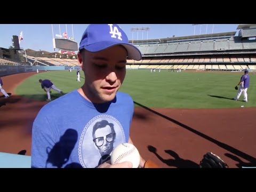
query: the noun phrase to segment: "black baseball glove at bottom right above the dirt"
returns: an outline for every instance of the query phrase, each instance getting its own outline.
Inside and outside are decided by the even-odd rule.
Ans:
[[[199,164],[200,168],[228,168],[225,163],[218,155],[208,152],[204,155],[202,161]]]

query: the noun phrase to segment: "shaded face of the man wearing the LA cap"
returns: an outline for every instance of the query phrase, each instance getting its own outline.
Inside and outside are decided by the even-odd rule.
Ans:
[[[113,100],[124,81],[126,58],[126,49],[121,45],[99,52],[78,52],[85,75],[82,87],[85,97],[94,103]]]

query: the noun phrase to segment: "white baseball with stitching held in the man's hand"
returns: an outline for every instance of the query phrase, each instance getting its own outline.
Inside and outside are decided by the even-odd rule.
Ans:
[[[140,154],[138,149],[131,143],[121,143],[111,153],[111,164],[129,161],[132,168],[138,168],[140,163]]]

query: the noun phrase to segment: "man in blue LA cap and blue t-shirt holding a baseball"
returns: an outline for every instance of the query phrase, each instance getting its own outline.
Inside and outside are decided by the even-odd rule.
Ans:
[[[46,148],[52,148],[67,129],[75,131],[78,138],[70,138],[77,139],[77,142],[62,167],[67,164],[79,164],[82,167],[132,167],[131,162],[111,165],[110,161],[104,161],[99,165],[99,159],[105,153],[99,154],[97,148],[101,147],[100,142],[103,141],[104,145],[104,142],[111,142],[111,139],[113,148],[123,142],[132,143],[130,126],[133,100],[130,95],[118,91],[125,78],[126,59],[139,61],[141,52],[129,43],[118,25],[92,24],[87,27],[78,52],[78,62],[85,75],[84,85],[48,103],[39,111],[32,130],[32,167],[45,167],[48,155]],[[95,123],[102,120],[114,125],[115,139],[113,135],[110,137],[105,132],[97,131],[93,137]],[[64,153],[65,149],[62,150]],[[107,151],[106,154],[110,152],[108,148],[103,150]],[[141,157],[139,166],[143,167],[145,162]]]

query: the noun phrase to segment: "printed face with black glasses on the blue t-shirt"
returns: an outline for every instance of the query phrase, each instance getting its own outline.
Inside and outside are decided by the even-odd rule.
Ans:
[[[109,125],[95,131],[93,141],[98,147],[101,156],[110,155],[113,150],[114,138],[115,135],[111,132],[111,127]]]

